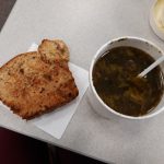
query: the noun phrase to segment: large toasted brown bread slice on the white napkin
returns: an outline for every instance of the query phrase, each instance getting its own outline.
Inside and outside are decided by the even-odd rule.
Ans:
[[[79,91],[66,63],[47,62],[37,51],[16,56],[0,68],[0,99],[24,119],[71,102]]]

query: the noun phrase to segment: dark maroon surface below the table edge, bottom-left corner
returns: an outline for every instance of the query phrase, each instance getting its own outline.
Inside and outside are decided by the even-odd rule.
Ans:
[[[47,144],[0,128],[0,164],[48,164]]]

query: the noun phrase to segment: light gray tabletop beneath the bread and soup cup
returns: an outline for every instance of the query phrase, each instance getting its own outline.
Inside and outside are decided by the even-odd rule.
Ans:
[[[86,70],[96,50],[118,36],[140,36],[163,47],[149,26],[150,4],[151,0],[17,0],[0,33],[0,65],[43,38],[62,38],[71,62]],[[142,122],[107,120],[94,113],[85,95],[60,140],[2,107],[0,126],[106,162],[164,163],[164,113]]]

